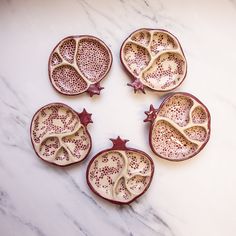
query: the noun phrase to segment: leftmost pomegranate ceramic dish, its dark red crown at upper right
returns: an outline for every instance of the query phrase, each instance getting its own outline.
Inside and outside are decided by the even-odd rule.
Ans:
[[[34,115],[30,135],[36,154],[44,161],[67,166],[84,160],[92,146],[87,130],[91,114],[77,113],[62,103],[51,103]]]

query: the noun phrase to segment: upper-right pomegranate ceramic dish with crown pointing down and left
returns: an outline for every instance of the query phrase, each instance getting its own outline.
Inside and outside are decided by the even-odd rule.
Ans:
[[[187,62],[178,39],[166,30],[139,29],[122,44],[120,59],[134,92],[148,87],[166,92],[185,79]]]

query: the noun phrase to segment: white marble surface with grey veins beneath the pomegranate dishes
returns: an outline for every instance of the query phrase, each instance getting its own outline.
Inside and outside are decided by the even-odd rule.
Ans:
[[[0,235],[236,235],[235,25],[235,0],[1,0]],[[211,139],[189,161],[170,163],[152,154],[143,111],[162,98],[134,95],[126,86],[119,48],[140,27],[165,28],[179,38],[188,75],[177,91],[194,94],[211,112]],[[100,97],[68,98],[49,83],[49,53],[71,34],[93,34],[112,50]],[[93,149],[79,165],[53,167],[32,149],[32,115],[54,101],[93,113]],[[85,181],[89,159],[117,135],[148,152],[156,166],[149,191],[126,207],[96,197]]]

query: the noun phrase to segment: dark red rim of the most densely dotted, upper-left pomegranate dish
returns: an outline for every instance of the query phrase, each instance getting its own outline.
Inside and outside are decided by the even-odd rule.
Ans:
[[[113,56],[112,56],[111,49],[106,45],[106,43],[105,43],[103,40],[101,40],[100,38],[98,38],[98,37],[96,37],[96,36],[88,35],[88,34],[81,34],[81,35],[70,35],[70,36],[67,36],[67,37],[61,39],[61,40],[59,41],[59,43],[57,43],[57,45],[53,48],[53,50],[51,51],[51,53],[50,53],[50,55],[49,55],[49,59],[48,59],[48,77],[49,77],[49,80],[50,80],[50,83],[51,83],[52,87],[53,87],[58,93],[63,94],[63,95],[66,95],[66,96],[78,96],[78,95],[80,95],[80,94],[86,93],[86,92],[88,91],[88,89],[89,89],[89,87],[88,87],[88,89],[87,89],[86,91],[82,92],[82,93],[67,94],[67,93],[64,93],[64,92],[59,91],[59,90],[53,85],[53,83],[52,83],[52,78],[51,78],[51,76],[50,76],[50,59],[51,59],[51,57],[52,57],[52,54],[54,53],[55,49],[62,43],[62,41],[67,40],[67,39],[74,39],[74,38],[95,39],[95,40],[97,40],[99,43],[101,43],[101,44],[107,49],[107,51],[108,51],[108,54],[109,54],[109,57],[110,57],[110,66],[109,66],[109,68],[107,69],[107,72],[104,74],[104,76],[103,76],[99,81],[97,81],[94,85],[96,85],[96,84],[99,85],[100,81],[102,81],[103,79],[105,79],[105,77],[107,76],[107,74],[110,72],[111,66],[112,66],[112,64],[113,64]],[[75,53],[77,53],[77,52],[75,52]],[[102,89],[104,89],[104,88],[101,87],[100,90],[102,90]],[[97,94],[97,95],[99,95],[99,94]],[[92,96],[90,96],[90,97],[92,97]]]

